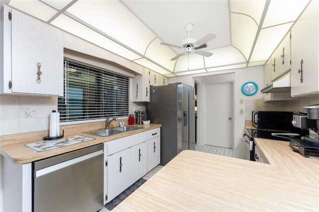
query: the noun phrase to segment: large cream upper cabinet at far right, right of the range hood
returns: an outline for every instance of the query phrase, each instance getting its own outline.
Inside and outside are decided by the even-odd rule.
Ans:
[[[291,95],[319,94],[318,0],[313,0],[291,30]]]

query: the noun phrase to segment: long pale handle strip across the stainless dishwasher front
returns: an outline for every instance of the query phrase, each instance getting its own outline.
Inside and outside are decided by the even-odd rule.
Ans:
[[[62,163],[58,163],[58,164],[55,164],[55,165],[52,165],[52,166],[49,166],[49,167],[46,167],[46,168],[43,168],[43,169],[39,169],[37,171],[35,171],[35,178],[37,177],[41,177],[43,175],[46,175],[48,173],[51,173],[51,172],[54,172],[56,170],[59,170],[59,169],[63,169],[67,166],[71,166],[73,164],[76,164],[76,163],[79,163],[81,161],[84,161],[84,160],[88,160],[90,158],[93,158],[93,157],[96,157],[98,155],[102,155],[103,154],[103,150],[98,150],[98,151],[95,151],[95,152],[92,152],[92,153],[89,153],[89,154],[86,154],[86,155],[83,155],[83,156],[80,156],[80,157],[77,157],[77,158],[73,158],[71,160],[67,160],[67,161],[64,161]]]

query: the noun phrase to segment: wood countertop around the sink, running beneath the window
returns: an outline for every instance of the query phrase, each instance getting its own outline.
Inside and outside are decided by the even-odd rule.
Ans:
[[[127,121],[125,122],[127,125]],[[116,126],[118,126],[118,123],[115,122],[114,124],[117,124]],[[86,134],[85,132],[95,131],[95,130],[104,128],[105,121],[96,122],[96,123],[73,124],[73,125],[61,126],[60,129],[61,130],[64,129],[64,137],[72,136],[72,135],[83,135],[86,137],[94,138],[94,140],[72,144],[69,146],[60,147],[57,149],[47,150],[43,152],[35,152],[24,145],[33,143],[33,142],[43,141],[42,138],[49,134],[48,130],[19,133],[19,134],[12,134],[12,135],[3,135],[3,136],[0,136],[0,154],[3,155],[5,158],[9,159],[12,163],[19,163],[19,164],[30,163],[32,161],[40,160],[40,159],[51,157],[54,155],[66,153],[69,151],[81,149],[81,148],[92,146],[95,144],[104,143],[114,139],[118,139],[125,136],[133,135],[136,133],[144,132],[147,130],[155,129],[155,128],[161,127],[161,124],[154,124],[154,123],[151,123],[148,125],[135,124],[130,126],[139,126],[144,128],[137,129],[134,131],[129,131],[129,132],[123,132],[123,133],[112,135],[112,136],[101,137],[101,136]]]

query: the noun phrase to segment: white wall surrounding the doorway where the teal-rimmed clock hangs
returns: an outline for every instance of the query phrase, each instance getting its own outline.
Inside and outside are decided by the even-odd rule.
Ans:
[[[233,73],[235,78],[233,79]],[[226,75],[225,75],[226,74]],[[227,75],[229,74],[229,75]],[[212,78],[212,75],[222,75],[222,77]],[[244,158],[244,141],[242,139],[242,135],[245,127],[245,100],[249,99],[263,99],[264,95],[260,92],[257,94],[248,97],[241,93],[241,86],[248,81],[253,81],[257,83],[260,89],[263,88],[264,85],[264,67],[263,66],[255,66],[241,69],[233,69],[233,70],[225,70],[218,72],[211,72],[205,74],[196,74],[196,75],[187,75],[180,77],[172,77],[168,78],[168,83],[175,82],[183,82],[190,86],[194,86],[195,79],[205,80],[214,80],[218,79],[220,82],[231,82],[233,81],[234,93],[233,93],[233,108],[234,108],[234,118],[233,118],[233,129],[234,129],[234,157],[236,158]],[[240,104],[240,99],[244,100],[244,104]],[[239,110],[243,109],[244,114],[239,114]],[[204,114],[203,114],[204,115]],[[200,121],[200,120],[199,120]]]

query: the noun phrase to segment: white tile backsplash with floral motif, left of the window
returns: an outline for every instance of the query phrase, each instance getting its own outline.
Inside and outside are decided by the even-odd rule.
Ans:
[[[49,129],[57,97],[0,96],[0,135]]]

